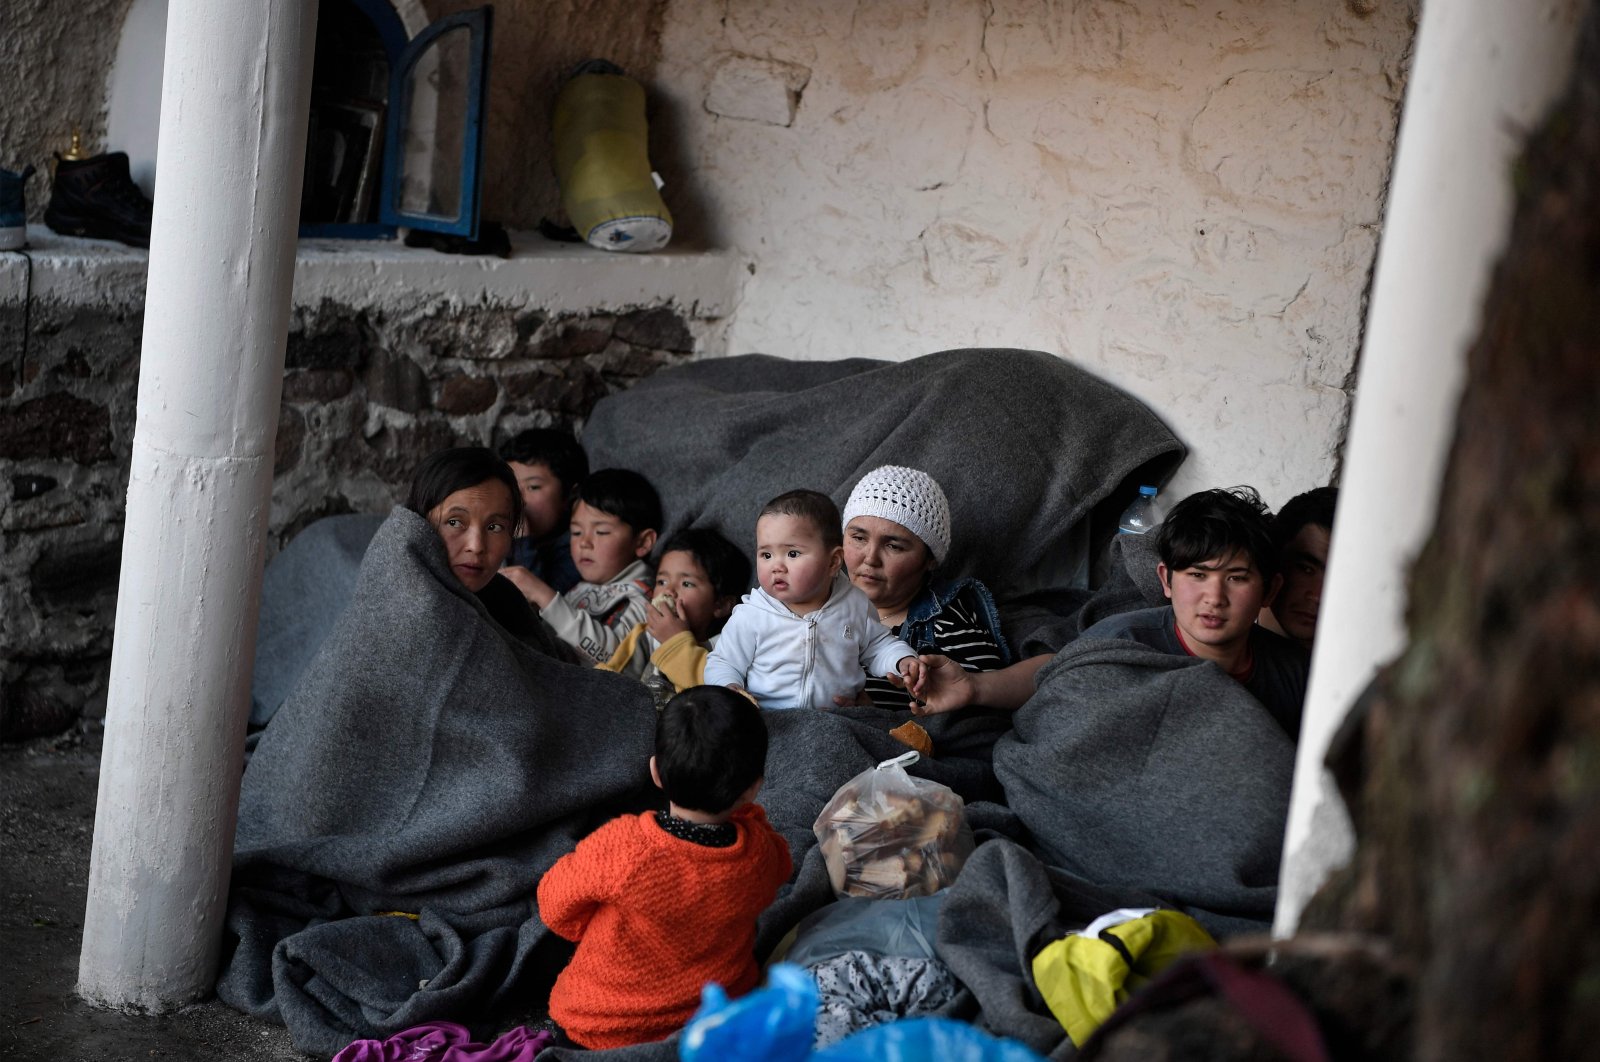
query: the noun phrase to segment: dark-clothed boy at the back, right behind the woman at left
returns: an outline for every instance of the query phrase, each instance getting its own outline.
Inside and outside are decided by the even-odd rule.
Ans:
[[[573,491],[589,475],[589,454],[571,432],[534,427],[501,443],[501,461],[510,465],[522,493],[522,521],[506,558],[506,576],[525,569],[557,593],[578,585],[578,568],[568,547]]]

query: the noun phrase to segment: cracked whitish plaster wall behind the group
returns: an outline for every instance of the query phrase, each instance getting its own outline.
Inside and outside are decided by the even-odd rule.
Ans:
[[[1189,443],[1168,494],[1282,504],[1338,464],[1414,10],[672,0],[669,203],[749,261],[730,352],[1053,350]]]

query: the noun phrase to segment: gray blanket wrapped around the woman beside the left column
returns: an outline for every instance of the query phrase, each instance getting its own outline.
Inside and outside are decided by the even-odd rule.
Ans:
[[[395,510],[245,771],[218,995],[333,1052],[554,977],[534,876],[650,806],[654,721],[638,683],[501,629]]]

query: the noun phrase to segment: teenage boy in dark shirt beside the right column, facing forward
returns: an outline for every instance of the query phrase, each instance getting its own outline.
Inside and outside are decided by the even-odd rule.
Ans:
[[[1190,494],[1162,521],[1155,552],[1168,605],[1109,616],[1080,637],[1128,638],[1211,661],[1298,737],[1310,664],[1302,648],[1256,625],[1282,584],[1272,521],[1256,491]]]

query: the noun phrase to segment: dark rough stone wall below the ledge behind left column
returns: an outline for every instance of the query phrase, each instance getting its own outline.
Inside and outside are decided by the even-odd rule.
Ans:
[[[0,736],[104,710],[142,312],[0,299]],[[418,459],[578,425],[605,393],[686,360],[674,305],[547,310],[334,299],[291,323],[269,555],[317,517],[384,512]]]

